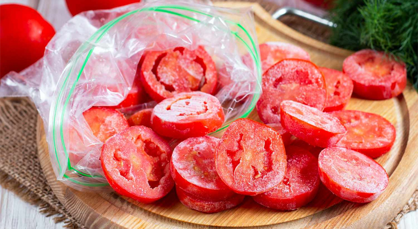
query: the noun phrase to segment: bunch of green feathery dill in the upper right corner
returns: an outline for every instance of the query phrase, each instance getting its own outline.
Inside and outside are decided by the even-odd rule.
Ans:
[[[331,44],[360,50],[391,53],[407,65],[407,74],[418,90],[418,1],[336,0],[331,19]]]

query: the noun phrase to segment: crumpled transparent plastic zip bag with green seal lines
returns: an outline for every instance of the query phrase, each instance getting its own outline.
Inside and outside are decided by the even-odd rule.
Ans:
[[[119,104],[132,86],[144,51],[199,46],[217,67],[215,96],[225,112],[222,130],[233,120],[247,117],[261,92],[250,9],[145,1],[84,12],[61,28],[37,66],[9,73],[0,84],[0,96],[29,95],[34,100],[60,181],[81,191],[108,190],[99,160],[102,142],[92,134],[83,112],[92,106]],[[250,56],[251,63],[243,62],[244,55]],[[132,114],[153,105],[121,111]]]

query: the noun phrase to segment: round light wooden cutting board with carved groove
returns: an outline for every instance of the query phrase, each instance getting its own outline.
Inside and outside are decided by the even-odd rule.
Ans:
[[[351,51],[306,37],[274,20],[258,4],[216,3],[223,7],[254,10],[258,42],[293,43],[309,52],[318,66],[341,70]],[[397,98],[371,101],[352,98],[347,109],[377,113],[396,126],[391,151],[377,161],[389,174],[389,185],[376,201],[354,204],[342,201],[321,186],[317,197],[296,211],[271,210],[247,197],[239,207],[215,214],[190,210],[177,199],[175,191],[160,201],[141,204],[116,193],[85,193],[57,181],[49,160],[41,119],[38,119],[38,153],[45,176],[61,203],[89,228],[201,228],[230,226],[257,228],[381,228],[405,205],[418,186],[418,94],[408,84]],[[256,112],[250,118],[259,120]],[[414,128],[415,127],[415,128]]]

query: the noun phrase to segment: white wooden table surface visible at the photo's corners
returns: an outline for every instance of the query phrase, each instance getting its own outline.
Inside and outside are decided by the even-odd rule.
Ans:
[[[88,0],[86,0],[88,1]],[[114,0],[117,1],[117,0]],[[18,3],[37,9],[55,28],[59,28],[71,17],[65,0],[0,0],[0,4]],[[54,217],[45,217],[39,208],[20,199],[13,192],[0,186],[0,228],[63,228],[64,223],[55,223]],[[405,215],[400,229],[418,228],[418,211]]]

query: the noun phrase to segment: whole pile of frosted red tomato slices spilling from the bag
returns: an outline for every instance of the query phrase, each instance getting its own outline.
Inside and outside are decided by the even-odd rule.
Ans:
[[[264,123],[237,119],[221,138],[207,135],[225,116],[213,95],[223,79],[205,48],[146,52],[123,102],[84,112],[103,142],[101,167],[111,187],[142,203],[175,187],[183,205],[205,213],[234,208],[245,196],[267,208],[295,210],[316,197],[321,183],[347,201],[376,199],[388,175],[372,158],[390,151],[395,127],[374,113],[344,108],[352,93],[398,96],[405,65],[362,50],[337,71],[318,67],[291,44],[268,42],[259,50],[263,94],[256,110]],[[252,64],[248,55],[242,60]],[[153,108],[119,112],[152,100]],[[70,131],[71,141],[80,138]]]

